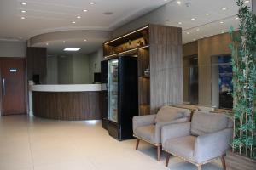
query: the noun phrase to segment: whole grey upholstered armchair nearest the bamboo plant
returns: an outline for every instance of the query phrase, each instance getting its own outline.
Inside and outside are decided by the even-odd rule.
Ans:
[[[224,156],[230,149],[232,121],[224,114],[195,111],[191,122],[162,127],[162,147],[167,152],[166,167],[170,156],[178,156],[201,166],[221,158],[225,169]]]

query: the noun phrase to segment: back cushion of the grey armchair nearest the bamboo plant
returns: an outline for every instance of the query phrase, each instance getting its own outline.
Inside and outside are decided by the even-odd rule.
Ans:
[[[230,118],[219,113],[195,111],[191,121],[191,134],[201,136],[215,133],[230,126]]]

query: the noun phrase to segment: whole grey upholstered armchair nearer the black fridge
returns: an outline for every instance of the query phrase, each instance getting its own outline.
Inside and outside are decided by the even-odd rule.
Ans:
[[[140,140],[157,147],[157,160],[160,161],[161,128],[174,123],[190,121],[190,111],[172,106],[163,106],[155,115],[134,116],[133,135],[137,138],[136,150]]]

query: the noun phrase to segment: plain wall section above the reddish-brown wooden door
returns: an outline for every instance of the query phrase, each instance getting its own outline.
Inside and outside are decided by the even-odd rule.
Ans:
[[[0,41],[0,57],[26,57],[26,42]]]

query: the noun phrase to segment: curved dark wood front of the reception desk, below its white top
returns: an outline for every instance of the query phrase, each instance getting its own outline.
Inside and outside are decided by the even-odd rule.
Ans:
[[[33,92],[33,114],[58,120],[102,119],[101,92]]]

